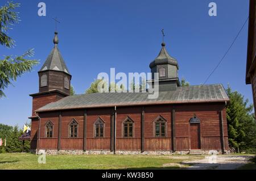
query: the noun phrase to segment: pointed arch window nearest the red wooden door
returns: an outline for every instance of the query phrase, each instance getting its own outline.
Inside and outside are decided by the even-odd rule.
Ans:
[[[155,137],[166,137],[167,121],[162,116],[156,117],[154,120],[154,134]]]

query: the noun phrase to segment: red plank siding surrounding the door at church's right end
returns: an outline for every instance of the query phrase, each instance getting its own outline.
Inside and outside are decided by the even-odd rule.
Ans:
[[[221,150],[221,129],[219,111],[223,111],[224,137],[228,136],[226,123],[226,111],[224,104],[194,104],[187,106],[176,106],[175,127],[176,127],[176,146],[177,150],[191,149],[191,134],[189,119],[196,115],[200,121],[200,145],[202,150]],[[228,141],[225,140],[225,145]],[[228,149],[228,146],[225,146]]]

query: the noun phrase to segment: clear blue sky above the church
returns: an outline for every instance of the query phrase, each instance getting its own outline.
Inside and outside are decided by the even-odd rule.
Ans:
[[[0,6],[6,1],[1,0]],[[100,72],[149,72],[158,55],[164,28],[166,48],[179,63],[179,77],[200,85],[217,65],[249,14],[249,0],[181,1],[14,1],[20,2],[21,22],[9,35],[16,47],[0,47],[0,56],[22,54],[35,48],[40,60],[5,90],[0,99],[0,123],[20,127],[31,116],[32,98],[38,92],[38,70],[53,48],[55,23],[60,20],[59,49],[72,74],[78,94]],[[38,16],[38,3],[45,2],[47,16]],[[217,16],[208,15],[208,4],[217,3]],[[251,86],[245,85],[247,24],[236,43],[207,84],[228,83],[252,103]]]

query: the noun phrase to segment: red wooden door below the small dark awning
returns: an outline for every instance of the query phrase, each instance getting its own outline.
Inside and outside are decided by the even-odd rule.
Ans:
[[[200,124],[190,124],[191,149],[200,149]]]

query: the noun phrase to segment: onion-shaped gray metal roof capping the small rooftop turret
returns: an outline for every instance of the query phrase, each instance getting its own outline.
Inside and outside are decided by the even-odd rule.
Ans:
[[[165,46],[166,44],[162,43],[162,49],[160,50],[160,53],[155,58],[155,60],[150,63],[150,69],[154,68],[154,66],[156,65],[163,65],[163,64],[175,65],[177,66],[177,69],[179,69],[177,60],[168,54]]]

